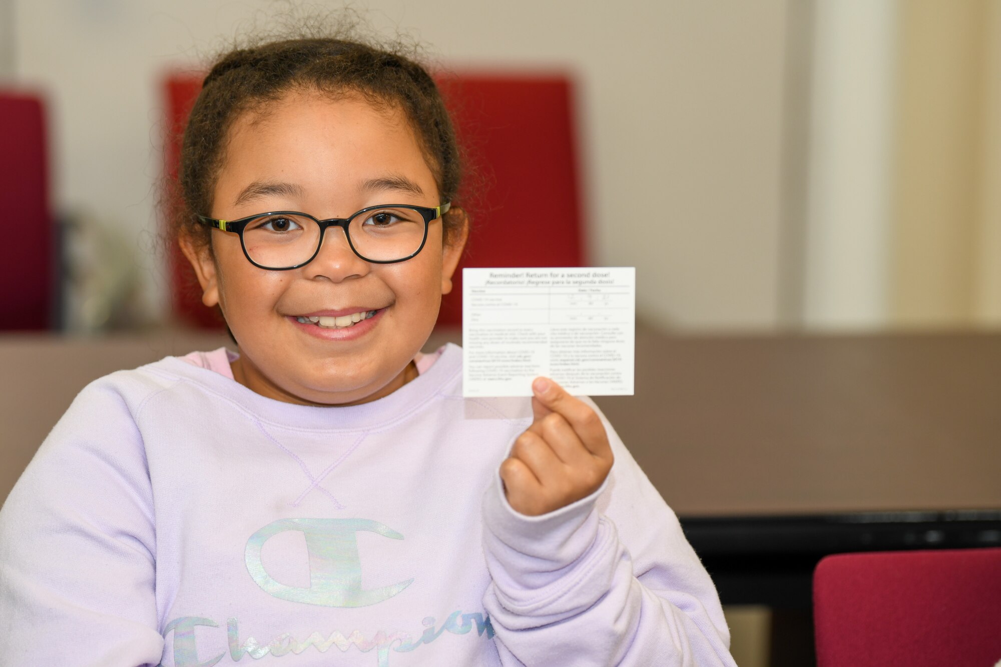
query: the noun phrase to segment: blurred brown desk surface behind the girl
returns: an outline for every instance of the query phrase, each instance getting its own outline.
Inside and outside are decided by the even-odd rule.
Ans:
[[[0,336],[0,499],[87,382],[223,344]],[[637,395],[598,403],[680,515],[1001,508],[1001,335],[640,326],[636,359]]]

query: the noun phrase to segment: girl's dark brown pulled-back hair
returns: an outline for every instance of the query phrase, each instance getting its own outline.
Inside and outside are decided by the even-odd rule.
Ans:
[[[455,133],[433,79],[412,55],[404,54],[407,50],[413,49],[307,36],[265,41],[219,56],[184,130],[173,232],[210,247],[210,229],[195,223],[192,214],[210,214],[230,128],[241,114],[266,113],[269,102],[294,90],[334,98],[360,95],[378,107],[399,109],[424,153],[441,201],[451,201],[461,178]],[[453,210],[442,218],[446,240],[464,214]]]

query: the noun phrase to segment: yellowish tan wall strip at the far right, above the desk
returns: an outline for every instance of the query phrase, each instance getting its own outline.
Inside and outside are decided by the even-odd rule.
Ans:
[[[890,322],[1001,323],[1001,7],[901,4]]]

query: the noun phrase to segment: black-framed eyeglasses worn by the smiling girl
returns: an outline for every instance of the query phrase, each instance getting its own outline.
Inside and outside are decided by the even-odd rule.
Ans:
[[[284,271],[312,261],[329,227],[344,230],[354,254],[376,264],[405,261],[420,252],[427,241],[427,225],[443,215],[450,202],[429,208],[383,204],[362,208],[348,217],[326,220],[294,210],[220,220],[195,215],[202,224],[239,234],[247,260],[258,268]]]

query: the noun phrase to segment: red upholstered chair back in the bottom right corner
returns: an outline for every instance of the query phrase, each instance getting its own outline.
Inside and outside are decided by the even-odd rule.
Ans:
[[[818,667],[994,667],[1001,549],[829,556],[814,623]]]

